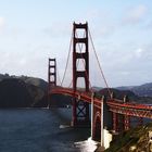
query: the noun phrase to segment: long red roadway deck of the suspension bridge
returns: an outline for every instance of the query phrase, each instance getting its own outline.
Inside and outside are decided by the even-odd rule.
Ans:
[[[54,88],[50,91],[50,94],[61,93],[77,98],[85,102],[91,103],[91,92],[73,91],[68,88]],[[93,99],[94,106],[101,109],[101,99]],[[111,112],[119,113],[124,115],[138,116],[152,118],[152,105],[138,104],[135,102],[124,103],[122,100],[110,99],[106,101]]]

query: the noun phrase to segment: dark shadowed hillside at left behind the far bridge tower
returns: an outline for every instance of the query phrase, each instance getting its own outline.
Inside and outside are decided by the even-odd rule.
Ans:
[[[40,78],[0,74],[0,107],[48,106],[48,83]],[[51,106],[71,104],[71,98],[54,94]]]

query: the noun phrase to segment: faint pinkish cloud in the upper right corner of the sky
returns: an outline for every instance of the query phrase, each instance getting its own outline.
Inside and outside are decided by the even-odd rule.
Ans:
[[[144,20],[147,12],[148,8],[143,4],[139,4],[135,8],[129,9],[123,21],[126,24],[137,24]]]

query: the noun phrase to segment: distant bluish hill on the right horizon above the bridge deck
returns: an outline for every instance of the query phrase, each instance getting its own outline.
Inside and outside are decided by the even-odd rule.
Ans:
[[[141,86],[117,87],[118,90],[130,90],[139,97],[152,97],[152,83]]]

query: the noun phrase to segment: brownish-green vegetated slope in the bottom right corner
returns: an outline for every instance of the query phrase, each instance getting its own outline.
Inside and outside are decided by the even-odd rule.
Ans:
[[[105,152],[147,152],[149,148],[149,131],[152,131],[152,123],[124,131],[115,137]]]

